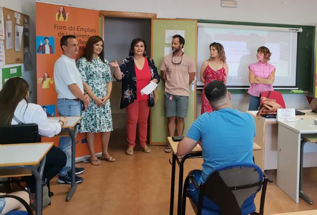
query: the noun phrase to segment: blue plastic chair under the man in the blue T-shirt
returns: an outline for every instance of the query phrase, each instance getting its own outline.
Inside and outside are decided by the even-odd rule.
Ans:
[[[198,185],[200,172],[192,170],[185,179],[182,215],[185,215],[186,197],[196,206],[197,215],[263,215],[266,184],[272,181],[259,166],[253,163],[223,165],[213,171],[205,183]],[[199,190],[198,196],[189,192],[193,188]],[[256,213],[254,199],[261,188],[260,211]]]

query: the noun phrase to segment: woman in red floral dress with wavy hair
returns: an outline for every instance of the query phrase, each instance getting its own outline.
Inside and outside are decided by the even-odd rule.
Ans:
[[[205,95],[206,86],[211,81],[222,81],[226,84],[228,76],[228,65],[226,63],[223,46],[220,43],[211,43],[209,49],[210,58],[203,63],[200,69],[200,80],[205,83],[202,94],[201,114],[213,111]]]

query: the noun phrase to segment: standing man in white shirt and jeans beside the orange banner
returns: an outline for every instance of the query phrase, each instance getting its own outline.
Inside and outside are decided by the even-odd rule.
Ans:
[[[60,116],[80,116],[86,110],[90,98],[84,93],[83,81],[76,67],[75,58],[78,55],[78,42],[74,35],[66,35],[60,39],[63,54],[54,64],[55,89],[57,92],[57,111]],[[82,106],[83,105],[83,106]],[[58,183],[71,183],[71,138],[61,137],[59,148],[67,156],[66,166],[58,174]],[[84,168],[76,168],[76,175],[84,172]],[[76,176],[75,182],[83,181]]]

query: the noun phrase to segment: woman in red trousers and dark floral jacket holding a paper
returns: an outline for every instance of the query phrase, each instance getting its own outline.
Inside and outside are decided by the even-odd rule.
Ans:
[[[136,128],[138,125],[140,150],[150,153],[147,146],[148,117],[150,107],[154,106],[154,94],[141,95],[141,90],[151,81],[159,83],[159,73],[154,61],[146,56],[146,43],[141,38],[133,39],[129,57],[121,65],[115,60],[110,63],[115,67],[114,78],[122,81],[120,108],[127,108],[127,155],[133,155]]]

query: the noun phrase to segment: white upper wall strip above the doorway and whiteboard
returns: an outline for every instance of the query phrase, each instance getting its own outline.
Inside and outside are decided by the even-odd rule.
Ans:
[[[22,1],[22,0],[20,0]],[[157,13],[160,18],[197,18],[244,22],[316,25],[316,0],[237,0],[236,8],[221,0],[43,0],[100,10]]]

